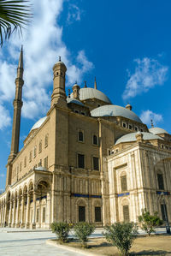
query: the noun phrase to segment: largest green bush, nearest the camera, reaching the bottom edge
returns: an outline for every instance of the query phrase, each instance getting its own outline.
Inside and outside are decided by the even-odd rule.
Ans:
[[[111,242],[120,251],[121,255],[128,255],[133,241],[137,236],[135,223],[114,223],[104,227],[106,240]]]

